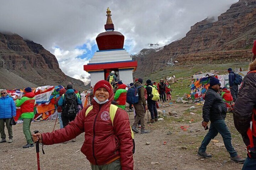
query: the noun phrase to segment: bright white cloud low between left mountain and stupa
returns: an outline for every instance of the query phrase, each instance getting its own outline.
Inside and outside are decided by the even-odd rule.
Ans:
[[[86,53],[84,49],[74,49],[73,51],[62,50],[60,48],[53,48],[53,54],[56,56],[59,67],[68,76],[75,79],[82,80],[85,84],[89,83],[89,73],[83,71],[84,65],[89,61],[85,58],[79,58],[79,56]]]

